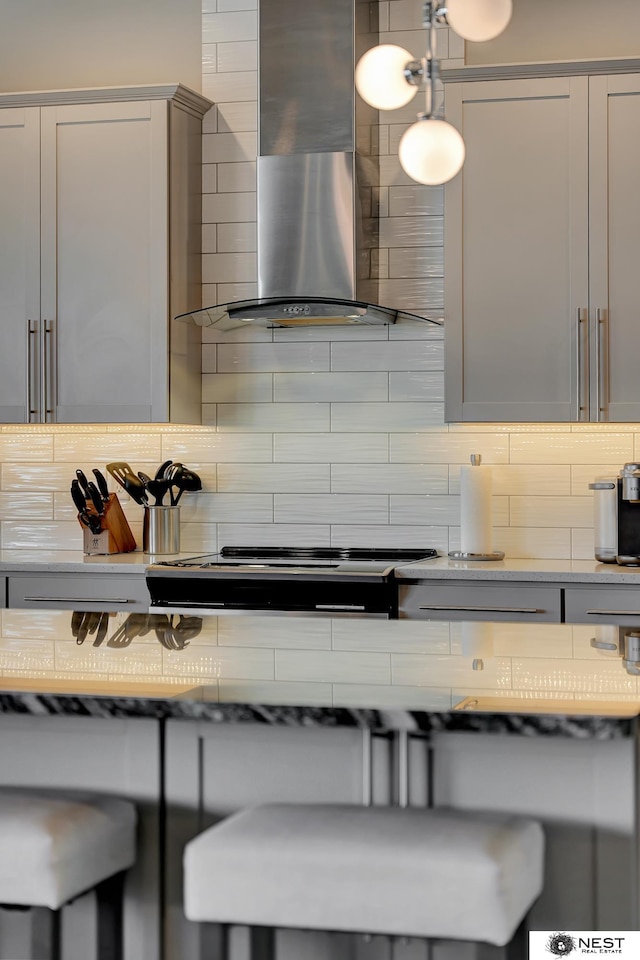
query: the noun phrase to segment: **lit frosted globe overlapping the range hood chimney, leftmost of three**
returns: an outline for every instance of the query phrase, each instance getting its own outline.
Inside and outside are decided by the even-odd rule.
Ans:
[[[356,89],[376,110],[397,110],[416,95],[418,88],[405,79],[404,68],[414,58],[394,43],[382,43],[360,57]]]

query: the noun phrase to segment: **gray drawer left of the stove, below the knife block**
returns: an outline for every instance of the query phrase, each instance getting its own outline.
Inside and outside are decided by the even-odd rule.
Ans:
[[[83,574],[10,576],[9,607],[49,610],[139,610],[149,609],[149,591],[144,575],[103,577]]]

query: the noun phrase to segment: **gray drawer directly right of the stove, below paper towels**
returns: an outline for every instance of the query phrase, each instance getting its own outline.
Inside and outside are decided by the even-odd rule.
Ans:
[[[514,584],[416,583],[400,586],[399,615],[405,620],[512,620],[560,623],[559,587]]]

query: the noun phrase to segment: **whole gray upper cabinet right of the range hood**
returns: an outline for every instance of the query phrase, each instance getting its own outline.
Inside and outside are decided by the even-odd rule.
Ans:
[[[640,419],[640,76],[451,83],[445,418]]]

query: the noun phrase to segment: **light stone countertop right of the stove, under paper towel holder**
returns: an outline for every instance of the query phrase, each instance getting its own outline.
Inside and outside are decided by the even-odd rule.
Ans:
[[[396,567],[410,580],[495,580],[522,583],[610,583],[640,586],[640,567],[597,560],[450,560],[436,557]]]

